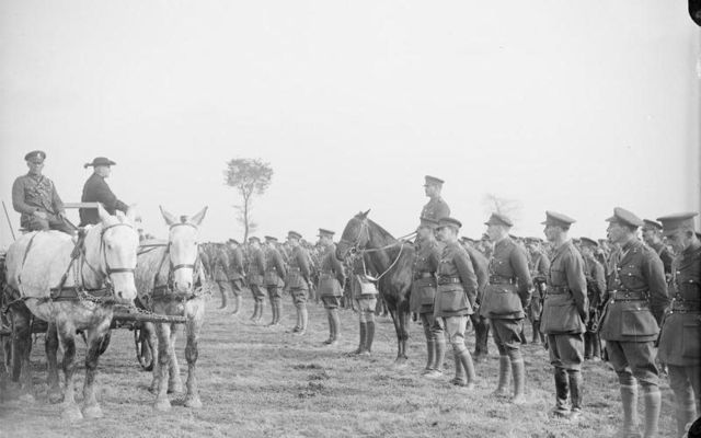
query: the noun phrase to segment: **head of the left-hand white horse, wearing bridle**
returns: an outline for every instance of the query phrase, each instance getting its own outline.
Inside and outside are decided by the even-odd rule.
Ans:
[[[110,215],[102,206],[97,208],[100,226],[100,252],[96,255],[101,269],[112,285],[114,298],[122,303],[131,303],[136,298],[134,269],[136,268],[136,253],[139,246],[139,234],[134,228],[135,211],[133,208],[124,215],[117,211]],[[85,257],[88,257],[88,250]],[[94,254],[94,253],[93,253]]]

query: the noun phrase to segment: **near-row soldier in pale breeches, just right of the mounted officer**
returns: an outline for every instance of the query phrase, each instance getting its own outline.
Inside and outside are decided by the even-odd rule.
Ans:
[[[470,256],[458,242],[461,227],[462,223],[453,218],[443,218],[438,221],[438,239],[445,246],[437,270],[438,287],[434,315],[436,324],[446,332],[452,346],[456,376],[451,383],[470,390],[474,388],[476,374],[472,355],[464,345],[464,331],[468,318],[479,306],[478,280]]]

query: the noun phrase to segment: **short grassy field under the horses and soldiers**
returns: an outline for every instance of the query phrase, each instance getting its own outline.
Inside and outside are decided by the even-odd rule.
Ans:
[[[36,401],[12,399],[0,404],[0,437],[606,437],[613,435],[620,422],[616,374],[604,364],[585,365],[585,413],[577,424],[571,424],[549,415],[554,383],[542,347],[525,347],[529,403],[514,406],[490,396],[498,368],[491,342],[489,360],[478,365],[476,389],[466,392],[448,384],[450,353],[444,381],[420,377],[425,344],[418,324],[411,326],[410,360],[398,368],[389,319],[378,319],[372,357],[357,358],[344,355],[357,346],[357,318],[350,311],[342,311],[341,344],[329,348],[321,344],[327,327],[323,309],[317,304],[309,306],[310,330],[301,337],[286,333],[295,323],[289,297],[279,328],[256,326],[248,320],[250,296],[244,297],[240,316],[211,309],[218,306],[217,298],[209,301],[199,343],[202,410],[183,407],[184,394],[172,394],[173,408],[154,412],[153,395],[147,390],[151,374],[136,361],[131,332],[119,330],[100,362],[97,396],[104,418],[65,423],[59,405],[48,403],[39,336],[32,353]],[[266,308],[264,319],[269,314]],[[183,349],[181,336],[177,354],[184,381]],[[82,345],[78,355],[82,362]],[[81,365],[79,402],[83,374]],[[667,382],[663,400],[660,436],[673,436]]]

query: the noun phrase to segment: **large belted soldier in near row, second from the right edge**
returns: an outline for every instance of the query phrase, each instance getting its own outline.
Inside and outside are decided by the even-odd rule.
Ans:
[[[657,436],[662,406],[659,371],[655,365],[654,343],[659,323],[669,304],[665,268],[659,256],[635,233],[643,221],[617,207],[608,218],[608,239],[619,246],[607,278],[606,307],[599,334],[618,374],[623,403],[621,435],[637,431],[637,383],[645,405],[645,438]]]

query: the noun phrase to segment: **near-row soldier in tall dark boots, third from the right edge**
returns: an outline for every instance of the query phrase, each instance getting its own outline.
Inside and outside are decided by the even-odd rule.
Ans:
[[[565,215],[545,211],[543,232],[552,243],[553,255],[543,301],[542,331],[548,335],[550,364],[554,367],[553,414],[576,420],[582,415],[582,361],[589,304],[584,260],[567,238],[574,222]],[[572,410],[566,405],[567,393]]]

